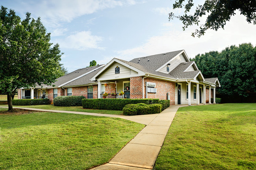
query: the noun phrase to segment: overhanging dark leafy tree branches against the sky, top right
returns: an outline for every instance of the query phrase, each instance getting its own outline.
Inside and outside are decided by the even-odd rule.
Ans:
[[[198,25],[200,18],[203,15],[208,15],[206,22],[200,25],[199,30],[196,29],[192,36],[197,35],[200,37],[204,35],[207,29],[213,29],[217,31],[219,28],[224,29],[226,22],[230,20],[232,15],[235,15],[235,11],[239,10],[240,14],[246,16],[246,20],[249,23],[256,24],[256,1],[255,0],[205,0],[203,5],[196,7],[194,14],[187,14],[194,6],[193,0],[188,0],[184,4],[185,0],[176,0],[173,4],[173,9],[185,8],[184,15],[175,16],[173,12],[169,13],[169,20],[178,18],[184,24],[183,30],[188,26]],[[199,18],[200,17],[200,18]]]

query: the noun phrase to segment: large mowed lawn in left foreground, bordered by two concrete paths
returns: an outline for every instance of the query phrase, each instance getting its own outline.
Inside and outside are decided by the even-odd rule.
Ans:
[[[119,118],[0,112],[0,169],[89,169],[108,162],[143,127]]]

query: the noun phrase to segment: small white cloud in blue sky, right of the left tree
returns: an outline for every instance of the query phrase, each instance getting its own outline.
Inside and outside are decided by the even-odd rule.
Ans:
[[[91,31],[81,31],[67,36],[64,39],[58,39],[61,48],[86,50],[86,49],[100,49],[104,50],[104,47],[99,47],[99,43],[103,38],[91,34]]]

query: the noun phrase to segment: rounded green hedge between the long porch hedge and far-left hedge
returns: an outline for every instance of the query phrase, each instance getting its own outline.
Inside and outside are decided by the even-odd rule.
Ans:
[[[54,106],[82,106],[84,96],[58,96],[53,99]]]

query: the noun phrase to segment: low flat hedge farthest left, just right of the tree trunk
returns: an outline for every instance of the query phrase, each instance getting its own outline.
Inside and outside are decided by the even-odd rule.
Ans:
[[[12,103],[19,106],[50,105],[50,99],[14,99]]]

